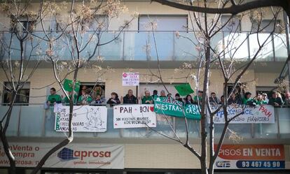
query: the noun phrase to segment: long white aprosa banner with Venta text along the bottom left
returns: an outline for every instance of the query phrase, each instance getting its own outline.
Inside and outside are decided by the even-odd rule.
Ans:
[[[11,143],[18,167],[35,167],[56,144]],[[9,166],[3,146],[0,146],[0,166]],[[46,168],[124,168],[124,145],[72,143],[52,154]]]

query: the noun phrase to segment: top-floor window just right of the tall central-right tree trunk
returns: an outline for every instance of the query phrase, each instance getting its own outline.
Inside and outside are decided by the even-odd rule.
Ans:
[[[221,26],[223,26],[224,24],[226,24],[223,29],[221,29],[222,31],[226,31],[226,32],[240,32],[241,31],[241,21],[239,17],[232,17],[230,19],[230,15],[222,15],[221,16]],[[229,21],[228,21],[229,20]]]

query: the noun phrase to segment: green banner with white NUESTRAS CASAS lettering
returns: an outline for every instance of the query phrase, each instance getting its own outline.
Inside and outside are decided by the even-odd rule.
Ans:
[[[200,119],[198,105],[186,105],[172,97],[157,97],[154,101],[154,112],[174,117],[186,117],[188,119]]]

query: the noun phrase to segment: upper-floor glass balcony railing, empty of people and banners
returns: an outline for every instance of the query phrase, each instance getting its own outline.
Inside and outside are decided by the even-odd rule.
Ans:
[[[50,32],[53,38],[61,36],[53,45],[55,56],[61,60],[71,60],[72,36],[60,32]],[[118,36],[117,39],[114,39]],[[198,46],[198,34],[193,32],[155,31],[154,35],[148,31],[106,31],[95,34],[88,31],[78,38],[81,57],[89,57],[95,51],[95,57],[104,57],[107,61],[156,61],[157,55],[160,61],[195,61],[200,55]],[[268,38],[270,37],[270,38]],[[20,59],[20,42],[15,34],[3,32],[1,34],[1,56],[8,57],[8,45],[11,43],[11,59]],[[43,32],[34,31],[25,41],[25,59],[43,59],[48,50],[48,44],[43,41]],[[249,34],[220,32],[216,34],[211,45],[222,57],[229,59],[249,60],[256,55],[259,43],[266,41],[258,53],[257,61],[284,61],[287,58],[285,34]],[[259,40],[259,42],[258,42]],[[98,43],[105,45],[99,46]],[[111,41],[111,42],[110,42]],[[86,43],[88,43],[86,45]],[[156,45],[155,45],[156,44]],[[85,46],[86,45],[86,46]],[[157,52],[156,52],[157,46]],[[92,59],[94,60],[94,59]]]

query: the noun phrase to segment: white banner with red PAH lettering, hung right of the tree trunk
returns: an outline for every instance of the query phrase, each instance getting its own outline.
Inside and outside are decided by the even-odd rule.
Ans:
[[[219,106],[212,106],[212,112]],[[235,115],[244,112],[242,115]],[[235,117],[230,123],[275,123],[274,107],[270,105],[249,106],[249,105],[231,105],[228,106],[228,119]],[[210,122],[209,114],[207,114],[207,122]],[[225,123],[223,108],[214,115],[215,124]]]

